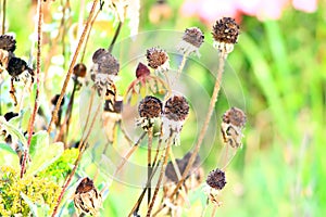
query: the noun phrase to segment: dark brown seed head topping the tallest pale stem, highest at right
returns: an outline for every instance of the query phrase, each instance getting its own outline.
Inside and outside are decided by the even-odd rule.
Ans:
[[[215,41],[236,43],[239,36],[239,25],[231,17],[223,17],[216,21],[212,34]]]

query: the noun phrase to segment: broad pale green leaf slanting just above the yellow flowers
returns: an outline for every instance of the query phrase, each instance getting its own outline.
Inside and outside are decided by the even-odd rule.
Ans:
[[[32,164],[27,168],[26,174],[36,175],[37,173],[46,169],[62,155],[63,151],[62,142],[57,142],[49,146],[40,146],[32,158]]]

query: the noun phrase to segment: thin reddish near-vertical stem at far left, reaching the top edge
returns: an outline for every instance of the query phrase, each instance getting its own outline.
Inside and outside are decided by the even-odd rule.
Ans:
[[[28,152],[29,146],[32,142],[32,136],[33,136],[33,128],[34,123],[36,118],[36,113],[38,110],[38,97],[39,97],[39,74],[40,74],[40,56],[41,56],[41,34],[42,34],[42,2],[41,0],[37,1],[37,14],[38,14],[38,21],[37,21],[37,56],[36,56],[36,95],[35,95],[35,102],[34,102],[34,108],[32,116],[29,118],[28,123],[28,139],[27,139],[27,149],[24,151],[23,156],[23,163],[22,163],[22,169],[21,169],[21,178],[23,178],[26,167],[26,162],[28,158]]]

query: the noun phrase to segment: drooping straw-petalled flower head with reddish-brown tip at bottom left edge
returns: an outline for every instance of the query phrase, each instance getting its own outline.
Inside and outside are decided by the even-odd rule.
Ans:
[[[97,216],[102,206],[102,196],[88,177],[84,178],[78,184],[75,191],[74,204],[78,215],[90,214],[92,216]]]

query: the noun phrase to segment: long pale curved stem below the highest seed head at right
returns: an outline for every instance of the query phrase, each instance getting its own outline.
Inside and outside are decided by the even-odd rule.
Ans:
[[[217,78],[215,80],[215,86],[214,86],[214,90],[213,90],[213,94],[212,94],[212,98],[211,98],[211,101],[210,101],[210,106],[209,106],[209,111],[208,111],[208,114],[206,114],[206,117],[205,117],[205,120],[204,120],[204,124],[200,130],[200,135],[199,135],[199,138],[198,138],[198,141],[195,145],[195,150],[189,158],[189,162],[187,164],[187,167],[181,176],[181,179],[178,181],[178,183],[176,184],[173,193],[170,195],[170,200],[173,199],[173,196],[178,192],[178,189],[180,188],[180,186],[183,184],[184,180],[186,179],[195,159],[196,159],[196,156],[199,152],[199,149],[202,144],[202,141],[204,139],[204,136],[206,133],[206,130],[209,128],[209,124],[210,124],[210,120],[211,120],[211,116],[213,114],[213,111],[214,111],[214,107],[215,107],[215,103],[217,101],[217,97],[218,97],[218,92],[220,92],[220,89],[221,89],[221,81],[222,81],[222,75],[223,75],[223,72],[224,72],[224,64],[225,64],[225,60],[226,60],[226,56],[227,54],[226,53],[220,53],[220,60],[218,60],[218,69],[217,69]]]

